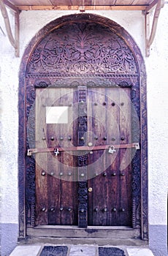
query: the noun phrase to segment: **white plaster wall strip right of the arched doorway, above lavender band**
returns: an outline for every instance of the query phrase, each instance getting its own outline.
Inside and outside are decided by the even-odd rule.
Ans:
[[[156,38],[145,59],[148,75],[149,222],[167,224],[168,189],[168,4],[159,16]]]

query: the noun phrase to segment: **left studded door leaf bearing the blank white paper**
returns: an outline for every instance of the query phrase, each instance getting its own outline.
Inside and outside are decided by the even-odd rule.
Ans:
[[[77,146],[74,89],[37,89],[36,148]],[[36,154],[36,225],[77,225],[77,158]]]

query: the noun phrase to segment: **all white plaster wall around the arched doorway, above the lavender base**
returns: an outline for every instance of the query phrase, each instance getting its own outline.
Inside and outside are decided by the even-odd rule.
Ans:
[[[111,18],[126,29],[139,45],[148,74],[149,222],[167,222],[167,5],[161,10],[156,39],[145,58],[145,25],[140,11],[92,11]],[[72,11],[27,11],[20,14],[20,58],[0,31],[1,70],[1,222],[18,223],[18,71],[31,38],[51,20]],[[4,23],[0,15],[0,24]],[[4,29],[5,31],[5,29]],[[5,32],[6,33],[6,32]]]

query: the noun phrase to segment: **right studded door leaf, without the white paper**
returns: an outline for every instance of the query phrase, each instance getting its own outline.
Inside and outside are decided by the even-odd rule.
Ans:
[[[93,146],[131,143],[130,89],[88,89],[91,139]],[[131,226],[131,148],[115,150],[88,154],[88,225]]]

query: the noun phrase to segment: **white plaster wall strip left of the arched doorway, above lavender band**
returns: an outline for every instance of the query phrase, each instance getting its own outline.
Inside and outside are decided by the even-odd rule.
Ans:
[[[10,12],[9,12],[10,14]],[[14,24],[13,16],[10,21]],[[1,222],[18,223],[18,71],[0,14]]]

